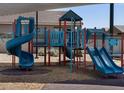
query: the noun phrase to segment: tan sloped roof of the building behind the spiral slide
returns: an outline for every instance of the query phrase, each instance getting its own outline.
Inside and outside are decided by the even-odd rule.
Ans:
[[[58,25],[59,18],[65,13],[66,11],[39,11],[38,23],[39,25]],[[12,24],[14,19],[17,19],[19,16],[36,18],[36,13],[30,12],[8,16],[0,16],[0,24]]]

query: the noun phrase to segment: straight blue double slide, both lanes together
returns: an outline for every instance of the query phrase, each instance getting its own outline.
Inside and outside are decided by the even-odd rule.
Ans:
[[[113,60],[108,55],[107,51],[102,48],[98,50],[97,48],[87,47],[88,53],[96,65],[96,69],[103,74],[122,74],[123,69],[118,67]]]

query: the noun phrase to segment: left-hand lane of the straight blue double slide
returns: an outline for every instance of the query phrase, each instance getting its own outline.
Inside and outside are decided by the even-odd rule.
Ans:
[[[93,63],[96,66],[96,69],[104,74],[113,74],[112,68],[108,67],[105,63],[104,60],[101,58],[99,55],[98,51],[96,48],[89,48],[87,47],[87,51],[89,55],[91,56],[91,59],[93,60]]]

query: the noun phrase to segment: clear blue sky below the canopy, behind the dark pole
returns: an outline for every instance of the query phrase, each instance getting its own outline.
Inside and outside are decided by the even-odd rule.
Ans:
[[[83,18],[84,27],[109,27],[109,4],[96,4],[55,10],[68,11],[70,9]],[[114,25],[124,25],[124,3],[114,4],[114,19]]]

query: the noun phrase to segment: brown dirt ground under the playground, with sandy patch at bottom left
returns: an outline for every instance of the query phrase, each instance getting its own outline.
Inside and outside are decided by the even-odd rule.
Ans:
[[[90,58],[87,58],[90,61]],[[87,63],[87,70],[83,70],[83,64],[80,63],[79,69],[73,65],[73,72],[70,71],[70,65],[58,64],[58,57],[51,57],[53,61],[51,66],[43,65],[43,57],[35,60],[31,71],[23,71],[18,68],[18,59],[16,67],[11,64],[11,56],[0,54],[0,89],[47,89],[46,85],[52,84],[92,84],[92,85],[111,85],[124,87],[124,76],[119,79],[107,79],[102,74],[93,71],[92,64]],[[120,65],[120,62],[117,62]],[[97,81],[96,81],[97,80]],[[105,81],[104,81],[105,80]],[[113,81],[112,81],[113,80]],[[106,83],[105,83],[106,82]],[[115,82],[115,83],[114,83]],[[121,82],[121,83],[119,83]]]

